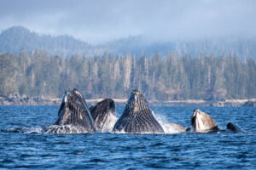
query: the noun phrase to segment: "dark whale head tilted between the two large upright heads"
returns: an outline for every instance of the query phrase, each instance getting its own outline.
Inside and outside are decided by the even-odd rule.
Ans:
[[[110,132],[117,121],[113,99],[103,99],[90,107],[90,114],[95,122],[96,129],[101,132]]]

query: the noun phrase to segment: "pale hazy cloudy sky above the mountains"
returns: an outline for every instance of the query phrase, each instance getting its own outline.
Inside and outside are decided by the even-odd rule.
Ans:
[[[256,37],[256,0],[0,0],[0,31],[10,26],[91,43]]]

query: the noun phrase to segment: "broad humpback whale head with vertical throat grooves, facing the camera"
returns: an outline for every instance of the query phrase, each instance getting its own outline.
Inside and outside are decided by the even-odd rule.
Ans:
[[[113,132],[165,133],[150,111],[147,100],[138,90],[132,90],[125,111],[115,123]]]

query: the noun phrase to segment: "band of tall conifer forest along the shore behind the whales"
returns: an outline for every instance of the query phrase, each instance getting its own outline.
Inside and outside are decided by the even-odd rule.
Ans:
[[[61,97],[78,88],[87,99],[127,98],[132,88],[147,99],[256,98],[256,65],[228,56],[132,54],[63,59],[44,51],[0,55],[0,95]]]

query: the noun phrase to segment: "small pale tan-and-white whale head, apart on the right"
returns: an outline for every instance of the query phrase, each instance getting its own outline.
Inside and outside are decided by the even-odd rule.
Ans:
[[[219,130],[212,117],[198,109],[191,116],[191,125],[196,133],[215,133]]]

